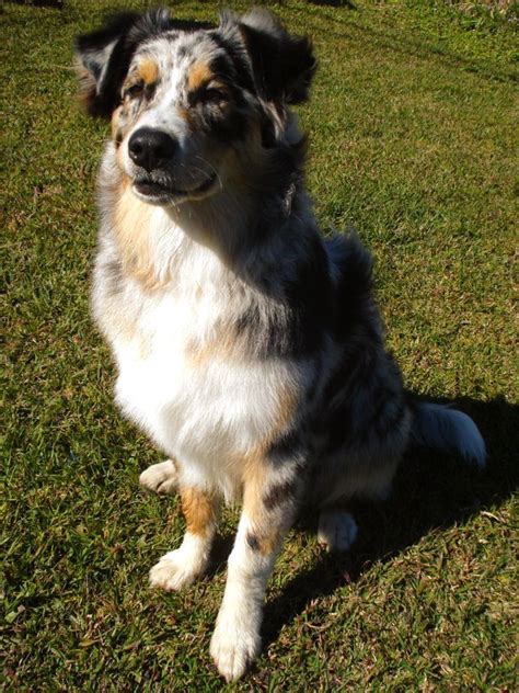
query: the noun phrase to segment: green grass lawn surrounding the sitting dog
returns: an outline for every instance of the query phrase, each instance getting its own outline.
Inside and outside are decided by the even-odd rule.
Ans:
[[[208,647],[237,512],[224,516],[211,577],[180,594],[148,588],[183,521],[174,499],[138,488],[160,456],[116,412],[113,364],[89,318],[107,128],[77,105],[71,44],[114,4],[149,5],[0,9],[10,691],[222,686]],[[354,225],[373,250],[408,387],[474,417],[488,469],[410,455],[392,500],[359,505],[359,539],[342,558],[321,552],[311,519],[291,532],[268,591],[264,652],[230,688],[511,691],[518,36],[511,22],[439,1],[356,5],[276,5],[311,33],[320,60],[300,109],[309,186],[323,228]],[[217,12],[173,7],[182,18]]]

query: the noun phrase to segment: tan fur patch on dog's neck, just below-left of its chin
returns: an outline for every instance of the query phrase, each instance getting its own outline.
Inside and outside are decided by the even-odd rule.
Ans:
[[[155,275],[150,249],[153,212],[154,207],[141,202],[131,192],[129,181],[123,179],[114,214],[117,245],[125,271],[147,291],[155,291],[163,285]]]

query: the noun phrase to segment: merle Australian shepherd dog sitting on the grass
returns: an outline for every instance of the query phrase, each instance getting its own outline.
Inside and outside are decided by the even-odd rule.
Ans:
[[[115,399],[168,459],[141,485],[178,492],[180,548],[150,571],[204,575],[222,502],[242,503],[210,652],[228,681],[261,649],[268,577],[301,508],[347,549],[354,497],[385,498],[412,444],[483,466],[464,413],[417,402],[384,348],[371,257],[324,238],[291,106],[316,63],[265,10],[219,25],[126,13],[76,41],[82,100],[111,121],[99,175],[92,313]]]

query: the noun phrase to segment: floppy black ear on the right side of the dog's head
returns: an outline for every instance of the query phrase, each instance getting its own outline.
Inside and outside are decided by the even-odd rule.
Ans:
[[[305,101],[316,68],[309,38],[291,36],[263,9],[245,14],[240,29],[258,94],[280,105]]]

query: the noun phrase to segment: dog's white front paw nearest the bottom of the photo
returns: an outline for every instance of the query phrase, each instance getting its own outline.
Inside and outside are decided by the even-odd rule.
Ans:
[[[219,673],[228,683],[245,673],[261,649],[262,639],[254,628],[218,617],[210,652]]]

